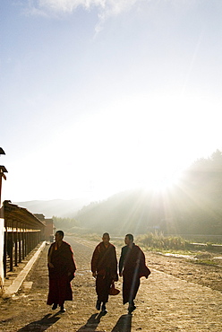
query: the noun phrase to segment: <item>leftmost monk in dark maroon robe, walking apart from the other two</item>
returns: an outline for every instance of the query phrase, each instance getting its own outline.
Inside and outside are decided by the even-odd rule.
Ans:
[[[73,250],[63,238],[63,231],[55,232],[55,242],[48,249],[47,259],[49,272],[47,304],[53,304],[53,310],[59,305],[62,312],[65,311],[64,301],[73,300],[71,281],[76,270]]]

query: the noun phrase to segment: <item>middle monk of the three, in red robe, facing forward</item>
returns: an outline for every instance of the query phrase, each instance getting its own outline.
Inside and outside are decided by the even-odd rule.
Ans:
[[[91,271],[96,278],[96,292],[98,295],[96,309],[101,309],[103,313],[107,313],[106,303],[110,286],[118,280],[115,246],[109,240],[109,234],[104,233],[102,242],[98,243],[91,258]]]

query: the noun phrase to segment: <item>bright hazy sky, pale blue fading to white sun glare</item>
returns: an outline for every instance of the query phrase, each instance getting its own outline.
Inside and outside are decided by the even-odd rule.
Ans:
[[[222,149],[221,0],[1,0],[3,199],[107,197]]]

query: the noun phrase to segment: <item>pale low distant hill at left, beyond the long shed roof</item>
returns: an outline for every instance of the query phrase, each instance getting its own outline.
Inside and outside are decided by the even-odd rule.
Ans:
[[[15,202],[15,204],[27,208],[32,214],[44,214],[47,218],[53,215],[58,217],[73,217],[83,205],[89,205],[90,199],[77,198],[72,200],[53,199],[48,201]]]

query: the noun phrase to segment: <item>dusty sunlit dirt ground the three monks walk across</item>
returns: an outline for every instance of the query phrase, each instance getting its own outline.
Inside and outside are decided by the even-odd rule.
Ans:
[[[46,304],[47,247],[27,278],[33,282],[30,293],[22,288],[12,299],[0,302],[0,331],[222,331],[221,266],[195,265],[184,258],[147,252],[151,275],[141,279],[137,309],[127,315],[120,293],[110,297],[108,313],[101,316],[95,309],[95,280],[90,273],[96,242],[64,240],[71,243],[78,267],[67,311],[59,313]],[[120,253],[119,248],[116,251]],[[121,279],[116,287],[121,289]]]

